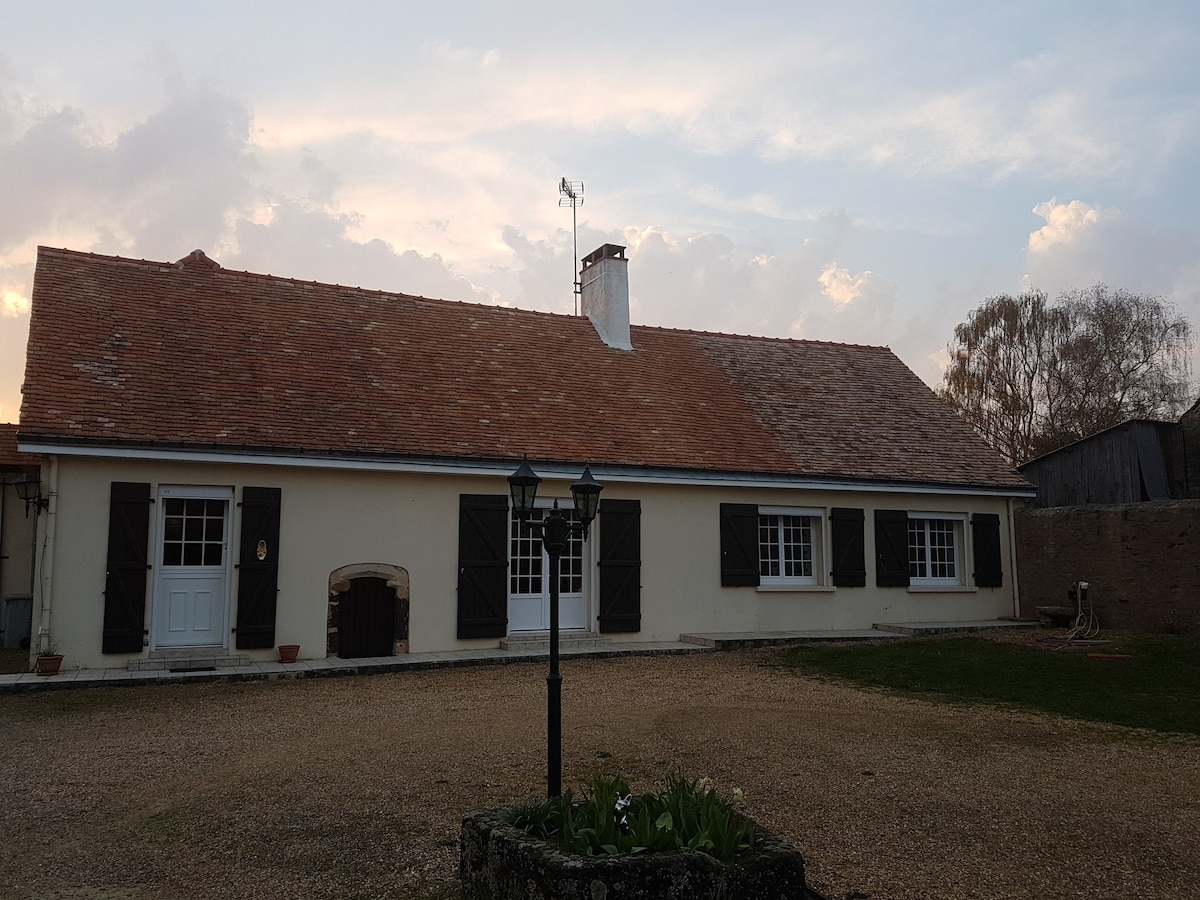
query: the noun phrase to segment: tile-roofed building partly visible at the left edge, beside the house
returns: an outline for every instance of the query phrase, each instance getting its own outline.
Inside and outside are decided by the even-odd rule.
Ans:
[[[34,533],[41,506],[18,496],[36,485],[40,460],[17,450],[17,426],[0,424],[0,647],[28,648],[34,614]]]

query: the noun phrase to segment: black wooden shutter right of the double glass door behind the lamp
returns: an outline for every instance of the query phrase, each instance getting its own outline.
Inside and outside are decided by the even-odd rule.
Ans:
[[[642,630],[642,506],[600,500],[600,631]]]

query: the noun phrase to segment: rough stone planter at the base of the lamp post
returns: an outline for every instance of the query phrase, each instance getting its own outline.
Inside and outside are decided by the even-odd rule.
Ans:
[[[508,810],[462,820],[463,900],[805,900],[800,852],[758,829],[732,863],[704,853],[581,857],[532,838]]]

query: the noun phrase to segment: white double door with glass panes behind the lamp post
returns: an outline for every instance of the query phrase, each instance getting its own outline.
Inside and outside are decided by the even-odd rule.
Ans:
[[[558,505],[568,522],[578,521],[574,509],[563,509],[563,500]],[[536,509],[529,521],[540,522],[548,511],[548,508]],[[550,556],[542,547],[541,529],[521,524],[514,512],[509,517],[509,631],[545,631],[550,628]],[[559,629],[588,626],[583,552],[583,539],[571,535],[566,552],[558,558]]]

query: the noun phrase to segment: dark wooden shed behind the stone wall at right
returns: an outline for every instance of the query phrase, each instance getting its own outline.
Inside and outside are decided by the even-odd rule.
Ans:
[[[1200,439],[1194,425],[1188,431],[1195,414],[1193,407],[1181,422],[1129,419],[1018,469],[1037,485],[1039,508],[1200,498]]]

